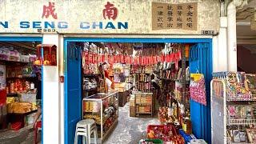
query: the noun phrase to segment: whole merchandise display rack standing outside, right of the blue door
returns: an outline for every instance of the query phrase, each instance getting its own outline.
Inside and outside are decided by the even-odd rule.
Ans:
[[[211,82],[214,143],[255,143],[254,74],[218,72]]]

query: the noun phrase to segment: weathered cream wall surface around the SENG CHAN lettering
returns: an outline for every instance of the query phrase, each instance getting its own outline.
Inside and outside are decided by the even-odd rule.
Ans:
[[[215,30],[219,27],[218,0],[55,0],[58,19],[51,16],[42,18],[46,0],[0,0],[0,21],[9,22],[8,28],[0,25],[1,33],[38,33],[37,29],[20,28],[20,22],[68,22],[67,29],[56,29],[62,34],[201,34],[202,30]],[[116,20],[105,20],[102,10],[106,2],[118,8]],[[183,3],[198,2],[198,30],[152,30],[151,2]],[[81,22],[128,22],[128,29],[88,29],[80,28]],[[104,26],[103,26],[104,28]]]

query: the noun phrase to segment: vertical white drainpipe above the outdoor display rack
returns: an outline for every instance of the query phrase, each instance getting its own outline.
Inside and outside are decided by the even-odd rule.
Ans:
[[[227,6],[227,63],[229,71],[237,71],[237,26],[236,6],[230,2]]]

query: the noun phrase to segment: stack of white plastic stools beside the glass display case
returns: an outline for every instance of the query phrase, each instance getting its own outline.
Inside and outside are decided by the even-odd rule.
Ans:
[[[90,144],[90,134],[94,133],[94,142],[97,143],[98,134],[96,122],[93,119],[79,121],[76,126],[74,144],[78,143],[78,135],[83,136],[82,143]]]

